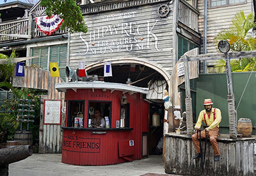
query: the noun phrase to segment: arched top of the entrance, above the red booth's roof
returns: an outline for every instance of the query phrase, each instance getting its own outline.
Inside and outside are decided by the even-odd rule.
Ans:
[[[170,74],[157,65],[156,62],[138,59],[138,58],[118,58],[102,60],[90,65],[86,65],[88,74],[104,74],[104,62],[111,61],[113,77],[108,77],[108,82],[125,83],[130,76],[132,82],[137,82],[132,85],[147,87],[147,81],[152,77],[165,80],[170,87]],[[134,68],[135,67],[135,68]],[[151,76],[150,76],[151,75]],[[147,77],[147,78],[145,78]],[[145,78],[145,79],[143,79]]]

